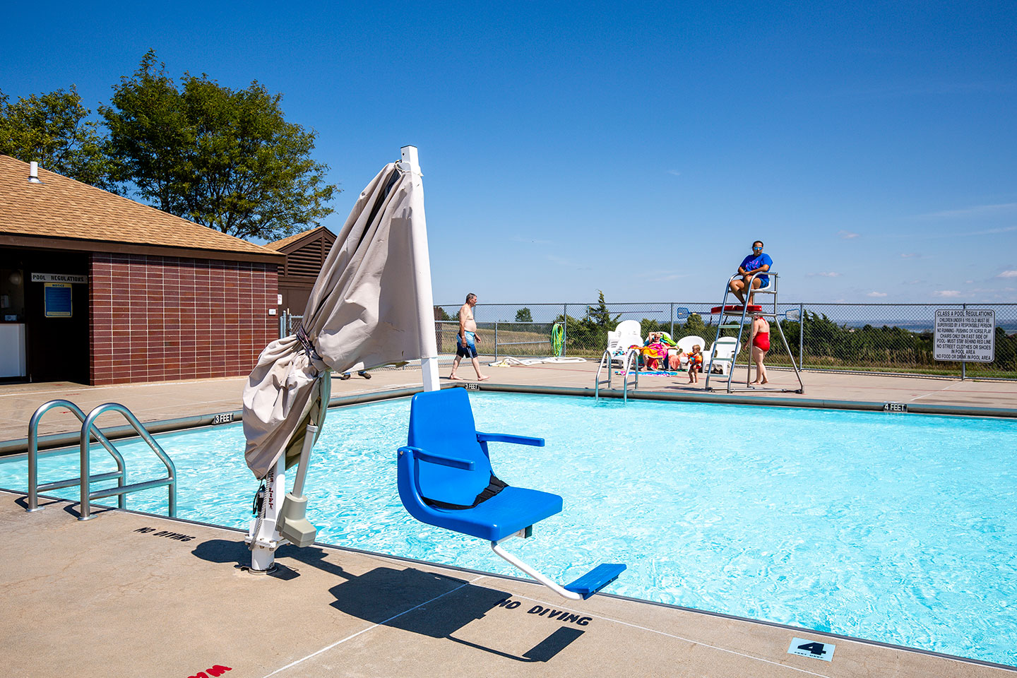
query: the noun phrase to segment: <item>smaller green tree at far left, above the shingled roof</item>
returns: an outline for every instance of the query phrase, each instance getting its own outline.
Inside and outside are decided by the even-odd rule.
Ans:
[[[85,120],[92,111],[81,106],[72,84],[32,95],[8,104],[0,91],[0,153],[24,163],[36,161],[51,172],[116,192],[106,157],[106,140],[98,123]]]

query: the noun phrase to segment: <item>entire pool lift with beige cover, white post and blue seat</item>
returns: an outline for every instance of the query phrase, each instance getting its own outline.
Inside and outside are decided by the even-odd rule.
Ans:
[[[295,336],[271,344],[262,352],[258,366],[244,389],[244,432],[248,437],[245,456],[256,477],[262,478],[262,486],[254,501],[255,516],[245,540],[251,549],[249,570],[271,572],[275,568],[276,549],[284,544],[308,546],[314,543],[316,531],[306,518],[307,500],[303,496],[303,486],[311,449],[324,421],[331,395],[328,368],[349,368],[348,363],[353,361],[351,356],[370,353],[366,350],[358,353],[361,345],[371,341],[369,332],[364,332],[362,327],[350,330],[350,335],[356,337],[352,346],[340,341],[343,331],[350,327],[349,318],[357,317],[358,313],[362,318],[366,313],[388,328],[416,324],[415,334],[397,333],[399,341],[412,335],[410,338],[415,344],[412,350],[419,352],[423,372],[424,392],[416,394],[411,405],[408,444],[398,450],[398,488],[410,514],[428,525],[486,539],[490,541],[491,550],[500,558],[558,595],[572,600],[587,599],[617,578],[625,566],[601,564],[561,587],[501,547],[501,543],[512,537],[530,537],[536,522],[561,511],[562,500],[555,494],[510,487],[491,471],[489,442],[543,446],[542,438],[479,433],[475,429],[466,390],[440,389],[423,185],[416,147],[404,146],[403,162],[397,165],[398,173],[393,172],[392,177],[385,179],[382,175],[388,176],[386,166],[361,194],[361,200],[343,229],[345,240],[342,243],[337,240],[334,251],[315,281],[308,301],[311,312],[305,310],[302,322],[310,320],[313,324],[317,317],[320,322],[315,326],[321,327],[319,334],[311,336],[311,332],[301,326]],[[396,174],[400,176],[396,177]],[[387,185],[382,191],[379,182],[385,181]],[[403,192],[390,200],[390,193],[397,190],[394,187]],[[368,194],[379,196],[373,205],[365,202]],[[363,215],[367,215],[366,219]],[[384,312],[387,307],[364,308],[363,298],[359,299],[359,306],[351,308],[352,304],[345,301],[346,295],[357,294],[357,290],[351,291],[351,287],[356,287],[357,280],[360,280],[357,274],[363,270],[354,271],[351,275],[336,270],[343,265],[363,268],[364,262],[371,256],[370,253],[363,254],[363,250],[371,246],[369,241],[372,238],[384,240],[384,236],[378,234],[386,234],[387,231],[379,228],[377,222],[384,225],[385,220],[391,224],[393,240],[404,245],[409,243],[410,278],[412,292],[415,293],[415,309],[410,309],[413,317],[406,316],[405,305],[399,306],[398,300],[405,299],[405,295],[395,295],[397,301],[390,298],[385,302],[396,309],[391,316]],[[401,229],[398,233],[397,222]],[[384,242],[380,242],[379,247],[391,252]],[[337,253],[337,250],[343,253]],[[348,260],[335,258],[351,252]],[[386,262],[392,265],[393,259],[390,255],[390,258],[379,260],[378,265],[383,267]],[[380,270],[369,272],[370,280],[381,278]],[[346,281],[346,288],[343,281]],[[391,290],[388,294],[392,294]],[[327,301],[332,295],[341,295],[339,299],[342,301],[330,306]],[[378,299],[374,299],[373,303],[383,306]],[[326,313],[328,317],[322,318]],[[400,316],[400,313],[403,315]],[[336,319],[343,324],[330,324]],[[324,342],[322,337],[325,337]],[[393,341],[378,349],[381,344],[383,342],[379,341],[371,347],[374,351],[371,355],[377,361],[372,365],[406,358],[405,355],[380,355],[400,350]],[[404,346],[401,350],[405,354],[411,349]],[[278,356],[275,362],[274,356]],[[280,377],[284,372],[287,381],[281,384]],[[283,387],[289,386],[291,381],[299,388]],[[295,409],[295,403],[303,403],[300,410]],[[279,412],[288,407],[292,408],[291,412]],[[293,452],[298,446],[297,459]],[[294,464],[297,472],[293,490],[280,501],[286,487],[286,469]]]

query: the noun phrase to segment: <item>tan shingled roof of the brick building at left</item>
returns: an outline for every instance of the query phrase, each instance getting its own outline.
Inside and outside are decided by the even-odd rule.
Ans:
[[[88,241],[95,250],[111,249],[102,245],[106,243],[127,251],[134,245],[145,251],[152,251],[153,246],[208,250],[207,255],[216,258],[281,258],[279,252],[260,245],[43,168],[39,178],[41,184],[29,183],[27,163],[0,156],[0,237],[11,236],[14,244],[23,244],[18,242],[23,240],[18,236],[23,236],[78,241],[79,245]]]

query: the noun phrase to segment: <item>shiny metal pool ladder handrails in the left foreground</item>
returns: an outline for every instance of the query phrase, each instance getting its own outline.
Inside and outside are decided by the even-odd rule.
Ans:
[[[81,450],[81,472],[78,478],[68,478],[67,480],[59,480],[54,483],[45,483],[43,485],[39,484],[39,421],[43,418],[47,412],[53,408],[67,408],[77,420],[81,422],[81,435],[80,435],[80,450]],[[127,484],[127,469],[124,466],[124,457],[117,450],[116,446],[110,442],[102,430],[96,426],[96,419],[99,418],[105,412],[119,412],[124,416],[124,419],[131,425],[134,431],[141,436],[141,439],[148,443],[148,447],[152,451],[160,458],[160,460],[166,465],[166,478],[159,478],[157,480],[148,480],[141,483],[131,483]],[[89,453],[91,453],[91,442],[92,436],[96,436],[99,443],[106,448],[106,451],[113,456],[113,459],[117,463],[117,471],[107,474],[97,474],[93,476],[89,472]],[[89,491],[92,483],[98,483],[101,481],[116,480],[117,486],[110,487],[105,490],[96,490],[95,492]],[[81,409],[70,400],[50,400],[45,403],[36,410],[35,414],[32,415],[32,419],[28,421],[28,511],[41,510],[39,507],[39,492],[46,492],[48,490],[57,490],[64,487],[74,487],[75,485],[81,488],[81,506],[79,510],[78,520],[87,520],[93,517],[92,515],[92,500],[101,499],[103,497],[117,497],[117,505],[120,508],[127,508],[127,494],[129,492],[138,492],[140,490],[151,490],[155,487],[167,487],[169,492],[169,516],[177,516],[177,469],[173,465],[173,459],[159,446],[155,438],[145,430],[141,425],[141,422],[137,420],[134,414],[122,405],[117,403],[107,403],[105,405],[100,405],[85,417]]]

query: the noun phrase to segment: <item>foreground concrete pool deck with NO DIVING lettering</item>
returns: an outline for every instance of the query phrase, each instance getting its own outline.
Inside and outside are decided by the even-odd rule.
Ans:
[[[115,509],[80,522],[73,503],[43,505],[26,513],[23,496],[0,492],[10,675],[1014,673],[610,596],[564,601],[527,581],[321,545],[284,547],[278,575],[255,576],[241,568],[248,552],[236,531]],[[789,654],[793,638],[833,643],[832,661]]]

